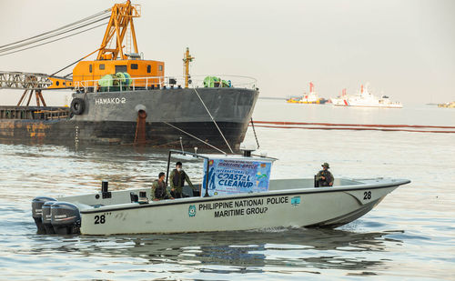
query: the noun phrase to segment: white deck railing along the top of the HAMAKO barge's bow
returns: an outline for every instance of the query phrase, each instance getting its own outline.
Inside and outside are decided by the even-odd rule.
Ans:
[[[100,85],[100,79],[75,82],[77,93],[124,92],[153,89],[173,89],[186,87],[186,76],[145,76],[145,77],[113,77],[112,85]],[[101,83],[102,84],[102,83]],[[199,87],[235,87],[256,89],[257,80],[240,75],[190,75],[188,88]]]

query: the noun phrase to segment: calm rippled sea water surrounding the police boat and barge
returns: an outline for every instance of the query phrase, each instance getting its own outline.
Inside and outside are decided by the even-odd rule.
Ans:
[[[455,110],[287,105],[259,100],[256,120],[455,125]],[[338,229],[274,228],[144,236],[35,235],[35,196],[150,186],[165,150],[0,144],[0,279],[455,280],[455,134],[257,128],[278,157],[273,178],[409,178],[377,208]],[[248,141],[254,141],[251,130]],[[184,168],[197,181],[200,163]]]

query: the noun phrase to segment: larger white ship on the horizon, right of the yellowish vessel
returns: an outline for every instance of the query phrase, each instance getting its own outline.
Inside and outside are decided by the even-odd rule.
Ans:
[[[383,95],[381,98],[376,97],[369,93],[368,87],[361,85],[359,95],[346,95],[346,89],[337,98],[332,98],[333,105],[339,106],[361,106],[361,107],[388,107],[388,108],[401,108],[399,102],[392,102],[389,96]]]

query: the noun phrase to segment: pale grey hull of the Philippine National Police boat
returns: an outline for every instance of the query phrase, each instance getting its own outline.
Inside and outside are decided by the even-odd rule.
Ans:
[[[409,183],[406,179],[341,178],[331,187],[312,187],[312,178],[299,178],[270,180],[265,192],[192,196],[145,204],[134,202],[131,194],[144,192],[150,198],[150,188],[56,199],[77,206],[83,235],[338,227],[364,216],[398,186]]]

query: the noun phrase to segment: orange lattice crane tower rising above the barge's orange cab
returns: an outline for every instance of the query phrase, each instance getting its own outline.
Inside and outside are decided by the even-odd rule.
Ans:
[[[139,5],[131,5],[131,1],[127,0],[126,3],[116,4],[112,7],[111,17],[106,27],[106,33],[103,37],[103,42],[99,48],[97,60],[116,60],[127,59],[127,55],[124,54],[123,39],[125,38],[128,26],[131,31],[131,37],[133,39],[133,46],[135,53],[138,54],[135,25],[133,24],[133,17],[139,17]],[[116,35],[114,37],[114,35]],[[116,48],[107,48],[111,41],[116,40]]]

